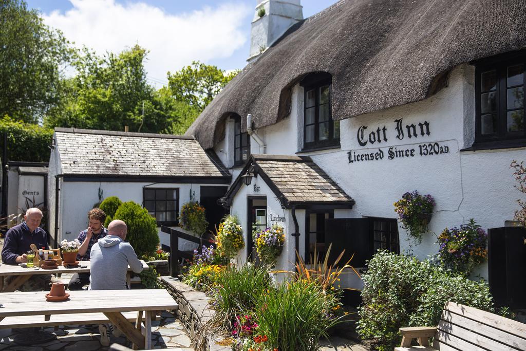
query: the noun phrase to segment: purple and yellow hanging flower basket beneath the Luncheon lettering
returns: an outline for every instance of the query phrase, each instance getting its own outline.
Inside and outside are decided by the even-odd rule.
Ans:
[[[274,266],[285,244],[285,229],[274,224],[270,228],[254,233],[256,252],[262,262]]]

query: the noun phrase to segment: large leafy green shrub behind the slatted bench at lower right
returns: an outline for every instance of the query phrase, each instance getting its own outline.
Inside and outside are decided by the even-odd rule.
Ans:
[[[379,350],[400,345],[400,327],[436,326],[448,301],[493,311],[488,284],[455,276],[428,260],[380,251],[362,278],[358,333]]]

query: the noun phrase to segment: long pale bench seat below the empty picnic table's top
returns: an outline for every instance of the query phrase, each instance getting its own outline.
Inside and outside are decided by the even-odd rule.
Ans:
[[[1,295],[0,295],[1,296]],[[158,313],[160,315],[160,313]],[[160,316],[155,317],[160,320]],[[123,316],[129,322],[136,322],[137,312],[124,312]],[[153,316],[153,313],[152,313]],[[143,317],[144,322],[144,317]],[[111,323],[104,313],[77,313],[74,315],[50,315],[45,320],[42,315],[5,317],[0,321],[0,329],[5,328],[32,328],[32,327],[54,327],[59,325],[90,325]]]

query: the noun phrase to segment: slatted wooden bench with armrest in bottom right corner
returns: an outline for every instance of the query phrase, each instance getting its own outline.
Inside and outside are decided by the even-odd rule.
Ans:
[[[396,351],[526,350],[526,324],[452,302],[444,306],[438,327],[400,328],[400,333]],[[411,347],[413,339],[420,345]]]

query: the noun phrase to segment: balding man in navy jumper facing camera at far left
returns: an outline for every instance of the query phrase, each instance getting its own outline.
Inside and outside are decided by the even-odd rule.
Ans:
[[[8,265],[26,263],[26,252],[31,250],[31,244],[35,244],[37,248],[44,247],[49,249],[47,234],[44,229],[38,227],[41,220],[42,211],[35,207],[29,208],[24,216],[24,222],[7,230],[2,249],[2,262]],[[9,284],[9,280],[14,278],[16,276],[9,276],[6,279],[7,284]],[[21,289],[26,291],[49,291],[50,280],[51,275],[35,274],[21,286]]]

